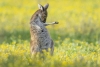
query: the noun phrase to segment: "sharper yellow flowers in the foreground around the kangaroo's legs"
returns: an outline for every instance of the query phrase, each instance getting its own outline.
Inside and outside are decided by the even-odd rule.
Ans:
[[[66,42],[68,44],[66,44]],[[54,55],[50,56],[45,50],[44,55],[32,58],[29,42],[23,44],[1,44],[0,65],[2,67],[99,67],[100,66],[100,45],[91,45],[82,41],[70,43],[66,39],[55,47]]]

